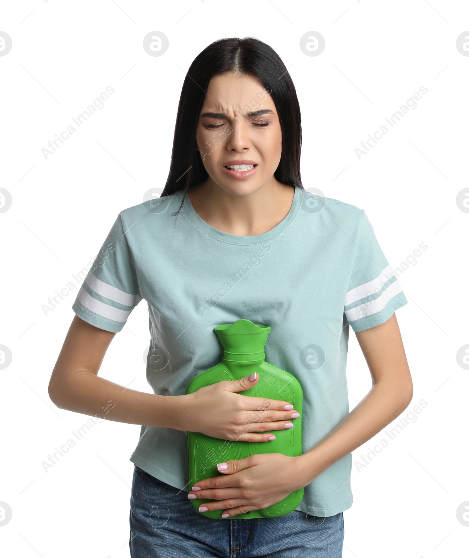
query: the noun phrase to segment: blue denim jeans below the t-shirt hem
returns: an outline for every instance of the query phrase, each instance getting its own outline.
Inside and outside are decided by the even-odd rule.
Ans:
[[[130,497],[132,558],[342,558],[342,513],[211,519],[180,490],[135,466]]]

